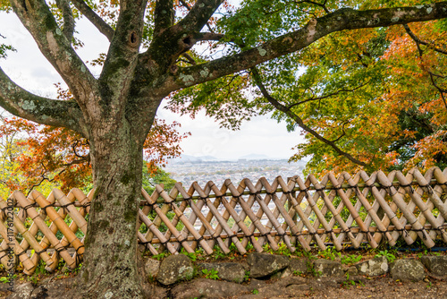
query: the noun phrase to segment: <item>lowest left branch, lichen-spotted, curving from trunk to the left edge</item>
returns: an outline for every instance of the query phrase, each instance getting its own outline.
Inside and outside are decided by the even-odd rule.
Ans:
[[[38,97],[15,84],[1,68],[0,107],[38,124],[63,126],[85,135],[82,113],[76,102]]]

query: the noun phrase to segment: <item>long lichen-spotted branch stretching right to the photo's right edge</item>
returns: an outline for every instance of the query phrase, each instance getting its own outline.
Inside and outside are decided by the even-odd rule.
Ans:
[[[299,51],[335,31],[385,27],[445,17],[447,17],[447,2],[368,11],[341,9],[322,18],[311,20],[302,29],[271,39],[259,47],[233,56],[225,56],[207,64],[182,68],[174,74],[173,80],[178,89],[212,81]]]

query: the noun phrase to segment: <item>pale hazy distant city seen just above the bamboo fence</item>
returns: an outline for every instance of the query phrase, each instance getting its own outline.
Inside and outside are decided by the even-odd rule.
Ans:
[[[261,155],[244,156],[232,161],[219,160],[214,157],[194,157],[182,155],[168,163],[165,170],[171,177],[181,182],[185,187],[194,182],[204,186],[208,181],[213,181],[221,186],[226,179],[231,179],[234,185],[244,178],[249,178],[253,184],[261,177],[266,177],[269,183],[281,175],[284,180],[288,177],[299,175],[306,166],[305,161],[289,163],[287,159],[270,159]]]

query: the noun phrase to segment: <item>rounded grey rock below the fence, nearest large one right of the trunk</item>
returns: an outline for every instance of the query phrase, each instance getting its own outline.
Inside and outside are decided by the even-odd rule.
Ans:
[[[162,261],[156,280],[167,286],[180,280],[190,280],[193,276],[194,268],[190,259],[184,254],[175,254]]]

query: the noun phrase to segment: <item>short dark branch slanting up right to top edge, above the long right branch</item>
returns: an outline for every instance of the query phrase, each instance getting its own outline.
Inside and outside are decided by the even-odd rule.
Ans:
[[[196,1],[196,4],[190,9],[190,13],[178,23],[178,26],[183,30],[199,32],[207,25],[207,21],[221,4],[223,4],[223,0]]]

